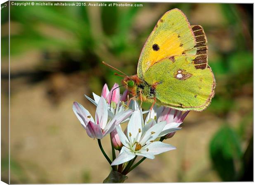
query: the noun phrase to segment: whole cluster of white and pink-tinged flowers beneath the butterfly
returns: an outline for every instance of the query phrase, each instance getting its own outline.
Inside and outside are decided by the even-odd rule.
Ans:
[[[128,99],[128,91],[120,95],[118,84],[109,90],[107,84],[102,89],[101,96],[93,93],[93,98],[86,96],[97,106],[95,119],[81,104],[74,102],[73,111],[81,125],[91,138],[98,139],[102,153],[111,164],[112,169],[119,165],[118,171],[127,174],[137,156],[154,159],[155,155],[175,149],[174,146],[164,143],[164,139],[171,138],[189,113],[167,107],[153,107],[152,110],[142,111],[135,100]],[[148,113],[144,121],[143,114]],[[121,128],[122,123],[128,123],[126,129]],[[110,134],[113,161],[104,152],[100,139]],[[115,157],[114,149],[120,153]],[[127,163],[128,162],[128,163]],[[120,166],[121,165],[121,166]]]

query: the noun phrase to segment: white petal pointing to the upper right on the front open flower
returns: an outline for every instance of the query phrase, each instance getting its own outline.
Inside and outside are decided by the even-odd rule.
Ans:
[[[149,130],[147,130],[147,132],[143,134],[140,144],[143,146],[145,143],[150,143],[150,141],[154,141],[163,131],[165,125],[166,122],[162,121],[160,123],[155,124],[153,127],[149,128]]]

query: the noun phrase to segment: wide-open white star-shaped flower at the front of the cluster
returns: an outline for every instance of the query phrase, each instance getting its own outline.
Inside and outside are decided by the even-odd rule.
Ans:
[[[154,155],[174,150],[175,147],[161,141],[154,141],[163,131],[166,122],[156,124],[154,119],[149,120],[149,127],[144,125],[142,110],[137,108],[127,125],[127,136],[121,130],[121,127],[116,127],[123,147],[120,154],[112,162],[111,165],[118,165],[129,160],[132,160],[136,155],[154,159]]]

